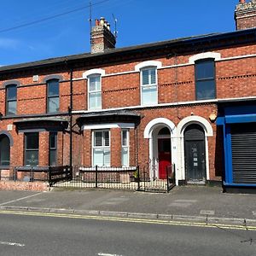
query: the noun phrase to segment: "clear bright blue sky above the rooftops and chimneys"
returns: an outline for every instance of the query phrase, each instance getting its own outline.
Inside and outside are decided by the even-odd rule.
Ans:
[[[90,15],[87,7],[90,2],[93,5],[93,20],[104,16],[113,30],[113,15],[116,17],[116,47],[125,47],[211,32],[235,31],[234,10],[239,1],[2,1],[0,65],[89,52]],[[78,11],[73,11],[75,9]],[[69,14],[61,15],[67,12]],[[56,18],[47,20],[55,15]],[[31,25],[23,26],[28,23]]]

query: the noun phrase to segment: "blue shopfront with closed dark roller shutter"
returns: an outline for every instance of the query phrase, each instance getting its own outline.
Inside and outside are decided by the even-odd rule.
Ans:
[[[223,127],[224,188],[256,189],[256,104],[243,103],[219,105],[217,125]]]

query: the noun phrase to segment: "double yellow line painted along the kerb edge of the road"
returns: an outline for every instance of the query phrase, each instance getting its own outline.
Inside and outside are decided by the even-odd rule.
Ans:
[[[173,220],[161,220],[161,219],[91,216],[91,215],[79,215],[79,214],[73,214],[73,213],[68,214],[68,213],[54,213],[54,212],[20,212],[20,211],[3,210],[3,211],[0,211],[0,214],[52,217],[52,218],[79,218],[79,219],[91,219],[91,220],[117,221],[117,222],[126,222],[126,223],[164,224],[164,225],[190,226],[190,227],[227,229],[227,230],[256,230],[256,227],[254,226],[235,225],[235,224],[207,224],[207,223],[200,223],[200,222],[173,221]]]

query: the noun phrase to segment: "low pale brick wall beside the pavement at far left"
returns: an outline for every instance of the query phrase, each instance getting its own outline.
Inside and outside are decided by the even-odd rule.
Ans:
[[[0,181],[0,190],[32,190],[49,191],[49,183],[23,182],[23,181]]]

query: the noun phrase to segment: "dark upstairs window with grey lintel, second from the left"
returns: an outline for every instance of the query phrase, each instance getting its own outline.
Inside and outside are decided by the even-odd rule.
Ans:
[[[60,84],[58,79],[47,81],[47,113],[60,110]]]

